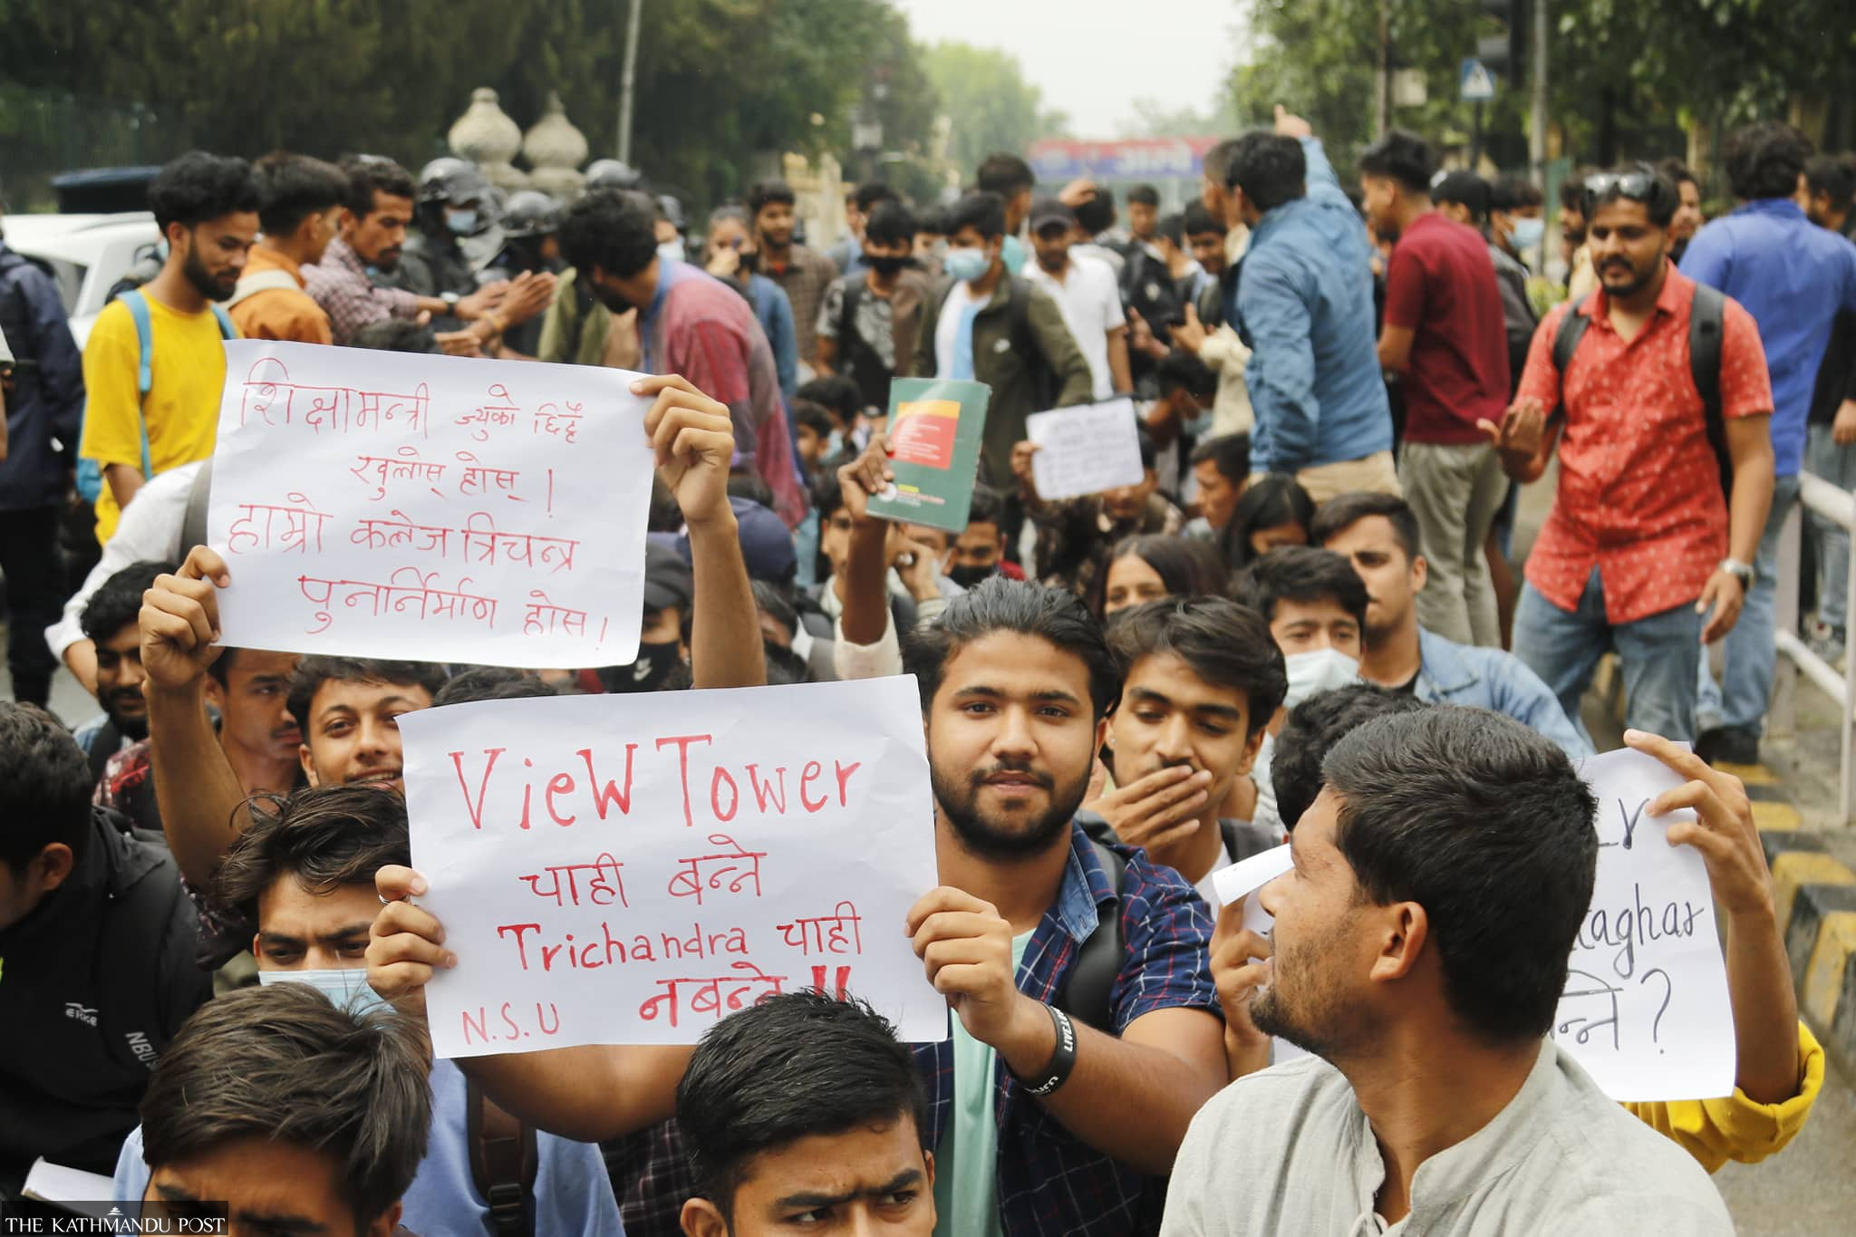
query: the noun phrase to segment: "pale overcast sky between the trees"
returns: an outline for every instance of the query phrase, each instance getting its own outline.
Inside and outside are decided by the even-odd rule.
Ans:
[[[895,0],[922,43],[1012,52],[1076,137],[1117,137],[1128,102],[1205,108],[1236,59],[1236,0]]]

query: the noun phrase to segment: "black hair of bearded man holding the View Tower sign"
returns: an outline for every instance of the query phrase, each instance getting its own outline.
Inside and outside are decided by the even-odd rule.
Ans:
[[[1034,636],[1080,658],[1089,673],[1089,703],[1097,718],[1106,714],[1121,694],[1121,675],[1102,638],[1102,625],[1084,608],[1076,593],[995,575],[950,599],[932,627],[902,636],[904,673],[915,675],[924,714],[941,690],[947,664],[969,644],[993,632]]]

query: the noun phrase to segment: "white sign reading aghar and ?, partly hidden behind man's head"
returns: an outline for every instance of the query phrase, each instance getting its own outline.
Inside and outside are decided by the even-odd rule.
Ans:
[[[1598,797],[1598,883],[1572,946],[1553,1039],[1613,1100],[1711,1100],[1734,1092],[1734,1011],[1708,868],[1648,816],[1683,784],[1641,751],[1579,764]]]

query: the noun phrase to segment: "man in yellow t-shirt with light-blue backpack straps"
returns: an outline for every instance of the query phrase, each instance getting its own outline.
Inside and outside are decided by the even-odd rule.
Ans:
[[[148,208],[167,241],[161,273],[104,306],[84,343],[78,456],[102,473],[98,545],[156,473],[213,453],[225,339],[238,334],[221,302],[258,239],[258,184],[245,159],[184,154],[148,185]]]

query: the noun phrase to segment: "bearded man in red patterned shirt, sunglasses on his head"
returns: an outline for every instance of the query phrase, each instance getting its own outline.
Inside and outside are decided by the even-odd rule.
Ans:
[[[1483,425],[1502,467],[1524,484],[1559,454],[1559,491],[1514,608],[1514,651],[1578,725],[1592,670],[1615,649],[1628,725],[1693,740],[1702,644],[1734,629],[1769,527],[1765,351],[1752,315],[1726,299],[1724,497],[1691,375],[1696,284],[1669,261],[1674,185],[1637,165],[1592,176],[1585,206],[1600,289],[1546,315],[1514,404],[1500,427]],[[1555,343],[1570,313],[1587,323],[1561,373]]]

